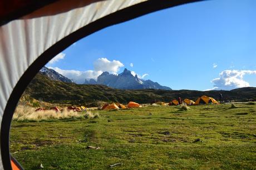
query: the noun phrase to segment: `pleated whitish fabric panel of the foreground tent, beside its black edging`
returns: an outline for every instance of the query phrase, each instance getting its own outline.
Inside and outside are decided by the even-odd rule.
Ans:
[[[144,1],[99,1],[53,16],[28,14],[0,27],[0,122],[13,88],[40,54],[87,24]]]

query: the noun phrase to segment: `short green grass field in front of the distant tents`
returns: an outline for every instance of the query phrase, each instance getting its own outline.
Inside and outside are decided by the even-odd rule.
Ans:
[[[93,111],[96,119],[13,121],[10,149],[24,169],[41,163],[43,169],[255,169],[256,105],[236,106],[150,106]]]

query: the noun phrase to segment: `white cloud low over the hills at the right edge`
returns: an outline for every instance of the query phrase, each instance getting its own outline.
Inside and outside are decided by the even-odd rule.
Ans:
[[[219,78],[213,79],[213,89],[230,90],[234,88],[249,87],[250,84],[244,81],[245,74],[256,74],[256,71],[250,70],[225,70],[219,74]]]

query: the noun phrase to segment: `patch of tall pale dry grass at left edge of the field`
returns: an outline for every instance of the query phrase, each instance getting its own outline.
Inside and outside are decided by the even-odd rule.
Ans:
[[[63,112],[55,112],[53,110],[48,111],[38,111],[35,112],[35,108],[29,106],[17,106],[16,111],[13,114],[13,121],[44,121],[49,119],[70,119],[70,118],[82,118],[85,114],[90,114],[93,116],[88,116],[88,118],[99,117],[99,113],[93,114],[91,112],[73,112],[64,109]],[[95,116],[97,115],[97,116]]]

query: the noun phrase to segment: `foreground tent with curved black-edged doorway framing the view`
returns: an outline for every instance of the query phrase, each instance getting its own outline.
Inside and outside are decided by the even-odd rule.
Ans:
[[[0,6],[0,169],[11,169],[9,128],[19,97],[53,57],[102,28],[160,9],[195,2],[147,0],[7,1]]]

